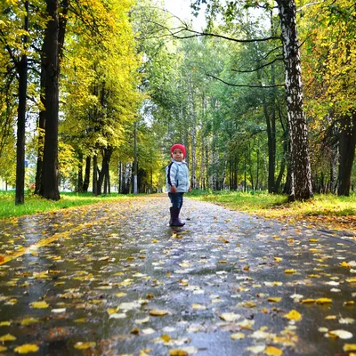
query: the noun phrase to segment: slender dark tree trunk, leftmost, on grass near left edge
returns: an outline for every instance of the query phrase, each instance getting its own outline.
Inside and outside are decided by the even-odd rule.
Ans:
[[[24,30],[28,31],[28,1],[25,2]],[[24,46],[28,43],[28,36],[22,38]],[[26,125],[26,97],[28,90],[28,56],[22,54],[17,63],[19,74],[19,106],[17,120],[17,147],[16,147],[16,194],[15,204],[23,204],[25,201],[25,125]]]

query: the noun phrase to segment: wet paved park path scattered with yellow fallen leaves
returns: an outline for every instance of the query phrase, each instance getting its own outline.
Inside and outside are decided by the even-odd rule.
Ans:
[[[354,238],[189,198],[172,229],[168,209],[161,195],[0,222],[0,354],[356,352]]]

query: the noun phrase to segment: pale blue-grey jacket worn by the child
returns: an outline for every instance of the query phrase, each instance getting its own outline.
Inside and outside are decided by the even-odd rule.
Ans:
[[[190,187],[189,172],[187,164],[177,162],[172,158],[172,162],[166,166],[166,190],[171,191],[171,186],[177,187],[177,193],[187,193]]]

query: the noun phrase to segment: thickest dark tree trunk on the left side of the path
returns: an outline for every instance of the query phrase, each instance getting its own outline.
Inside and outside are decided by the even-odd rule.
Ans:
[[[58,187],[58,112],[59,112],[59,4],[47,0],[50,20],[44,35],[45,135],[42,183],[44,198],[59,200]]]

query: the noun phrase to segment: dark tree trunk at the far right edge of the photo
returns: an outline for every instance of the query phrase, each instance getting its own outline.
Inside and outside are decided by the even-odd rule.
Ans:
[[[356,145],[356,112],[341,117],[339,132],[339,196],[350,195],[353,158]]]

